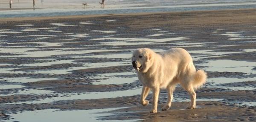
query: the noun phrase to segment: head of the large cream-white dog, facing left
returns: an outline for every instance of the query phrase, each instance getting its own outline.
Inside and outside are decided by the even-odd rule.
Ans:
[[[131,57],[132,66],[138,72],[145,73],[152,65],[153,51],[148,48],[140,48],[133,52]]]

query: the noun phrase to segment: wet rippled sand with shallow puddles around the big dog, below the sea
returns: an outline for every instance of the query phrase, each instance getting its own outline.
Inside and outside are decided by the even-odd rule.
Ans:
[[[53,112],[55,122],[256,121],[256,9],[0,18],[0,26],[1,122]],[[177,86],[168,111],[163,90],[159,112],[149,113],[131,53],[173,47],[192,55],[207,83],[197,108],[186,110],[189,95]]]

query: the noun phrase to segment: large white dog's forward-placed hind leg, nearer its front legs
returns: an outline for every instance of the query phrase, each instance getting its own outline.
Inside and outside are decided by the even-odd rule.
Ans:
[[[172,99],[173,99],[172,93],[175,90],[175,86],[176,86],[176,83],[175,84],[170,84],[170,85],[167,86],[168,100],[167,100],[166,105],[163,106],[162,111],[166,111],[171,107]]]

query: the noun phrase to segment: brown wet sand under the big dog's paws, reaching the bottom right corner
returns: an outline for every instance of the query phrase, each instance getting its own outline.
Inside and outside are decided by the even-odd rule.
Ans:
[[[149,113],[150,107],[123,108],[114,111],[111,116],[101,116],[99,120],[127,120],[143,119],[145,122],[230,122],[255,121],[255,108],[229,106],[222,102],[200,101],[198,107],[192,110],[184,109],[186,102],[174,102],[172,108],[156,114]],[[159,105],[159,108],[163,104]]]

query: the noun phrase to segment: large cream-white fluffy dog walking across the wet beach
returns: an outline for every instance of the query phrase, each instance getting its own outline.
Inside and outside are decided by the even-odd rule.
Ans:
[[[177,83],[189,93],[191,102],[187,109],[195,108],[195,91],[206,82],[207,74],[203,70],[195,70],[190,54],[183,48],[171,48],[168,51],[155,53],[149,48],[140,48],[133,52],[132,64],[143,85],[140,103],[148,105],[145,100],[153,91],[153,107],[151,113],[157,113],[157,102],[160,88],[167,89],[168,101],[162,111],[172,104],[172,92]]]

